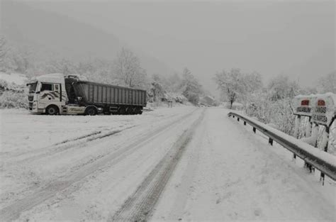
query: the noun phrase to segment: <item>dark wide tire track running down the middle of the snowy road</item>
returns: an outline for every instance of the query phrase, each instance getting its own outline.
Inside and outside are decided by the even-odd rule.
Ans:
[[[108,221],[147,221],[150,218],[160,194],[167,184],[172,172],[184,153],[186,145],[194,135],[196,127],[204,117],[203,109],[201,116],[184,131],[167,155],[156,165],[156,167],[144,179],[140,187],[130,196],[121,209],[119,209]]]

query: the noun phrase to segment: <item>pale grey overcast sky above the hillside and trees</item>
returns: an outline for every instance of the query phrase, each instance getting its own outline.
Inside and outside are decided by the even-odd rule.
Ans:
[[[335,1],[48,1],[31,3],[113,33],[174,70],[241,68],[303,85],[335,70]]]

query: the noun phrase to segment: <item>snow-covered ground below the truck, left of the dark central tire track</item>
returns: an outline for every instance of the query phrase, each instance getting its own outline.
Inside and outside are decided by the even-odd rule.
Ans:
[[[39,220],[108,216],[106,212],[123,203],[127,192],[136,188],[199,112],[193,106],[156,109],[138,116],[41,116],[1,110],[0,217],[17,218],[21,211],[29,215],[22,218]],[[103,173],[105,168],[108,176]],[[121,182],[121,187],[112,188]],[[50,205],[78,183],[83,187],[70,192],[79,192],[79,206],[72,205],[76,211],[67,204]],[[107,189],[106,193],[101,189]],[[86,196],[89,193],[93,196]],[[89,210],[95,196],[99,208]],[[69,201],[67,196],[61,199]],[[43,201],[55,206],[50,218]]]

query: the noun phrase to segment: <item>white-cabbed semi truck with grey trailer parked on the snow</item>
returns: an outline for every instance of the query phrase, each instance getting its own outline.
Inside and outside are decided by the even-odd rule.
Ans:
[[[49,115],[141,114],[142,89],[89,82],[77,75],[44,74],[28,82],[29,110]]]

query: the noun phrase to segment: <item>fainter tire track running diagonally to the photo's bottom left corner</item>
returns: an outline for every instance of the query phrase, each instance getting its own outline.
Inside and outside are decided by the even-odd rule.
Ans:
[[[32,194],[28,194],[28,196],[24,197],[23,199],[20,199],[13,204],[4,207],[0,210],[1,221],[16,220],[20,216],[21,212],[33,209],[34,206],[43,203],[43,201],[46,201],[47,199],[51,199],[60,192],[71,194],[75,190],[79,189],[80,182],[85,177],[100,170],[101,167],[103,167],[107,163],[109,163],[110,167],[112,167],[113,165],[127,157],[134,150],[137,150],[143,145],[146,145],[150,140],[152,140],[152,138],[155,138],[157,135],[164,133],[164,131],[167,131],[169,128],[174,127],[176,123],[184,121],[187,117],[191,116],[197,110],[198,109],[194,109],[194,111],[191,111],[190,113],[187,113],[186,115],[177,118],[177,120],[159,127],[154,133],[152,131],[146,133],[141,138],[135,140],[133,143],[125,146],[125,148],[120,148],[116,150],[116,152],[108,153],[108,155],[100,157],[94,162],[90,162],[88,165],[84,165],[83,167],[79,168],[79,170],[72,172],[71,174],[65,175],[64,177],[59,178],[54,182],[51,182],[50,184],[47,184],[45,187],[37,189]]]

